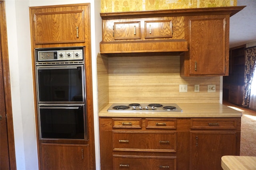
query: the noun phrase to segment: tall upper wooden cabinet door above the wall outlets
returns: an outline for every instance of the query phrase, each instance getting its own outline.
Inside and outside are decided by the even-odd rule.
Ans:
[[[200,16],[189,20],[190,74],[225,75],[226,67],[225,16]]]

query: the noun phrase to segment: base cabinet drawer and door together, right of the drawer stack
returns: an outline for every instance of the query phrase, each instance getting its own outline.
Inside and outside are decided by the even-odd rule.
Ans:
[[[190,170],[222,170],[222,156],[239,155],[239,124],[232,118],[191,119]]]

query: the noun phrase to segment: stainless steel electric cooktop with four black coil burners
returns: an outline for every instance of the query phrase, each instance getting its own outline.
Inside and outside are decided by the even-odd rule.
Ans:
[[[114,103],[108,111],[122,112],[182,112],[177,104],[155,104],[155,103]]]

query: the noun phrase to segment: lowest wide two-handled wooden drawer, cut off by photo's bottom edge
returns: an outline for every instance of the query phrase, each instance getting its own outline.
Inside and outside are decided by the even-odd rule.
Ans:
[[[114,170],[176,170],[176,156],[113,155]]]

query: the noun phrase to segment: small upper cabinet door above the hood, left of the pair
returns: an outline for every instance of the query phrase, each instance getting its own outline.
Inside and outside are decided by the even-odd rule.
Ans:
[[[140,21],[114,22],[114,39],[141,39]]]

